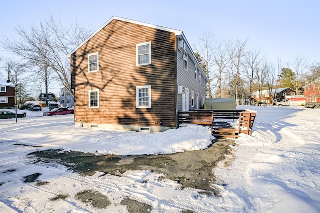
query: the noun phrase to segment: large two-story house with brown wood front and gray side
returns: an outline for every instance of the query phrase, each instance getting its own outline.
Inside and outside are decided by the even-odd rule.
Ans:
[[[180,30],[112,16],[68,57],[76,125],[165,131],[203,105],[207,78]]]

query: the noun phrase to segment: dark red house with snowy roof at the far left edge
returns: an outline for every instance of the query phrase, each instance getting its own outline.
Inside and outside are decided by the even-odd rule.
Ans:
[[[14,108],[14,84],[0,79],[0,108]]]

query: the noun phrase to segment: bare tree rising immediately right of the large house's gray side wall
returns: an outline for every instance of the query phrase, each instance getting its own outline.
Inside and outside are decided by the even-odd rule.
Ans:
[[[208,98],[212,98],[212,91],[211,91],[211,81],[213,79],[213,70],[212,66],[214,64],[213,61],[213,52],[214,46],[213,42],[213,34],[209,31],[202,33],[201,37],[199,38],[198,45],[193,45],[195,51],[199,54],[198,61],[203,69],[208,82],[207,82],[207,94]]]

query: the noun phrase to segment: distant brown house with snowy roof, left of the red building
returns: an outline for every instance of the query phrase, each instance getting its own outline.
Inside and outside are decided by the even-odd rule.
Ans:
[[[289,87],[284,87],[272,89],[271,91],[269,91],[268,89],[255,91],[251,93],[251,105],[258,103],[274,104],[277,101],[283,100],[286,95],[296,95],[295,90]]]

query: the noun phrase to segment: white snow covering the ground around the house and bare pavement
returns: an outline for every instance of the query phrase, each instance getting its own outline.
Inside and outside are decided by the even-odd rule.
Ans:
[[[37,150],[62,148],[94,154],[162,154],[204,149],[209,130],[187,125],[162,133],[90,130],[76,127],[73,115],[46,116],[26,112],[26,118],[0,120],[0,212],[127,212],[120,205],[130,197],[152,206],[153,213],[191,210],[210,212],[320,212],[320,110],[300,107],[238,106],[258,112],[251,136],[236,140],[232,156],[212,171],[219,177],[220,197],[177,190],[161,174],[127,171],[122,177],[96,173],[79,176],[60,165],[27,164],[26,155]],[[196,133],[196,134],[195,134]],[[30,146],[18,146],[30,145]],[[41,146],[41,147],[35,147]],[[234,160],[232,160],[234,158]],[[37,186],[23,177],[40,173]],[[143,181],[148,180],[148,181]],[[75,194],[95,190],[111,205],[95,209],[76,200]],[[65,199],[51,201],[57,195]]]

